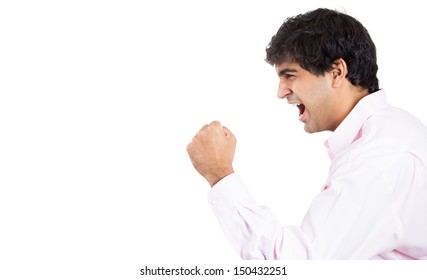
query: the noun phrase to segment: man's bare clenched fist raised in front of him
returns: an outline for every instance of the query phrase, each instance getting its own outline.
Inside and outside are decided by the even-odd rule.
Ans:
[[[211,187],[234,173],[232,165],[235,150],[236,137],[218,121],[203,126],[187,146],[194,168]]]

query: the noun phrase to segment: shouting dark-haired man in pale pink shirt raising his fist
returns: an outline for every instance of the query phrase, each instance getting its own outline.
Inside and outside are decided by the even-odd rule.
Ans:
[[[427,259],[427,128],[387,104],[367,30],[317,9],[288,18],[266,51],[278,97],[298,106],[304,129],[333,132],[330,173],[302,225],[283,227],[234,173],[232,132],[205,125],[187,151],[236,251],[244,259]]]

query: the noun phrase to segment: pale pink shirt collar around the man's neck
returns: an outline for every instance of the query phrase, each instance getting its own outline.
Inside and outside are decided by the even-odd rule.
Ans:
[[[325,141],[330,159],[333,159],[338,153],[359,139],[364,122],[386,105],[384,90],[379,90],[362,98],[329,139]]]

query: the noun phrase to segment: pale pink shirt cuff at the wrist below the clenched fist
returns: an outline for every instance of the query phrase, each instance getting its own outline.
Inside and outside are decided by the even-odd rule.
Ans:
[[[224,177],[209,190],[208,201],[218,218],[240,204],[256,205],[242,179],[235,173]]]

